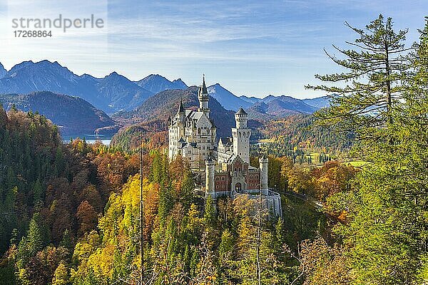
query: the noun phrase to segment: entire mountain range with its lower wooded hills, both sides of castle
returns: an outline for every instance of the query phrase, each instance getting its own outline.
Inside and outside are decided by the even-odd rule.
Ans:
[[[63,135],[76,130],[92,133],[99,128],[111,132],[117,125],[166,120],[175,114],[180,99],[186,107],[197,108],[197,93],[196,86],[188,87],[180,78],[169,81],[158,74],[131,81],[116,72],[103,78],[78,76],[56,61],[24,61],[9,71],[0,63],[0,102],[6,108],[15,104],[21,110],[39,111],[63,126]],[[327,96],[303,100],[285,95],[237,96],[219,83],[209,86],[208,93],[219,135],[229,135],[233,113],[240,107],[260,121],[310,114],[330,105]],[[116,123],[108,114],[114,114]]]

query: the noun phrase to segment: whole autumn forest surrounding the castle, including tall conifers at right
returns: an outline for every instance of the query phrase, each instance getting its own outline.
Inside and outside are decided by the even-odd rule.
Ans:
[[[367,163],[270,152],[282,217],[195,195],[158,137],[140,177],[138,149],[62,143],[44,116],[0,107],[0,284],[427,284],[428,21],[411,47],[382,15],[350,29],[327,52],[346,71],[307,88],[339,94],[314,128],[351,132],[338,148]]]

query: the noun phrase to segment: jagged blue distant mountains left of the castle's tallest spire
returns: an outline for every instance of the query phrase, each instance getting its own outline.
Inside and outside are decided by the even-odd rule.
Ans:
[[[183,81],[168,81],[162,76],[151,77],[150,82],[138,81],[141,86],[151,86],[155,91],[156,85],[162,88],[186,88]],[[168,86],[162,86],[159,81],[165,80]],[[10,71],[0,66],[0,94],[26,94],[34,91],[51,91],[83,98],[96,108],[106,113],[118,110],[133,110],[141,105],[148,97],[158,92],[152,92],[138,83],[130,81],[125,76],[113,72],[104,78],[95,78],[88,74],[77,76],[58,62],[24,61]],[[146,83],[146,84],[144,84]],[[164,90],[164,89],[163,89]]]

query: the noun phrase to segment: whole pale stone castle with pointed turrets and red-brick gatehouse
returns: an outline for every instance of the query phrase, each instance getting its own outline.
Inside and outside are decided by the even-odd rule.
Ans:
[[[217,140],[216,128],[210,118],[205,77],[198,90],[198,100],[196,111],[184,109],[180,101],[176,115],[170,120],[170,160],[180,155],[195,172],[205,172],[205,197],[248,195],[255,198],[258,196],[254,194],[262,192],[265,207],[280,215],[280,195],[267,187],[267,157],[260,157],[259,168],[250,165],[248,114],[240,108],[235,113],[232,137]]]

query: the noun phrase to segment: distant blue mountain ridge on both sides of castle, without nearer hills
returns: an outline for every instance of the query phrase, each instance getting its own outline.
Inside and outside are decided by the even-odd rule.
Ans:
[[[116,113],[119,110],[133,110],[151,96],[164,90],[183,90],[187,87],[180,78],[169,81],[158,74],[151,74],[140,81],[131,81],[116,72],[104,78],[96,78],[89,74],[77,76],[56,61],[45,60],[36,63],[33,61],[24,61],[16,64],[9,71],[6,71],[0,63],[0,94],[26,94],[34,91],[51,91],[54,93],[75,95],[109,114]],[[238,110],[240,107],[251,108],[262,101],[269,105],[270,101],[277,98],[272,95],[265,98],[238,97],[218,83],[209,86],[208,92],[227,110]],[[303,99],[300,101],[315,108],[323,108],[328,105],[328,100],[325,97]],[[275,105],[278,105],[278,101],[275,102]],[[288,104],[288,107],[282,104],[282,106],[284,108],[293,108],[296,106],[296,110],[290,110],[297,113],[302,112],[302,110],[305,113],[310,109],[303,108],[301,104]],[[255,105],[255,107],[258,108],[258,105]],[[272,111],[275,113],[273,115],[280,113],[280,108],[277,107],[263,108],[263,110],[267,110],[267,112],[274,110]],[[286,111],[285,115],[287,113],[290,112]]]

